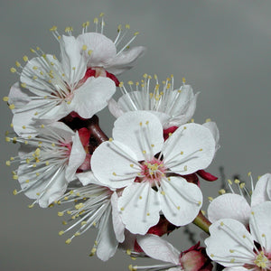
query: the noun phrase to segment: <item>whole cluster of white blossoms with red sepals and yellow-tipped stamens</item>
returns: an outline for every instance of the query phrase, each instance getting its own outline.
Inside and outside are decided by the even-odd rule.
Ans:
[[[211,261],[226,270],[270,270],[271,175],[252,185],[252,195],[238,180],[235,193],[229,181],[231,193],[212,200],[206,218],[200,180],[217,179],[205,170],[220,134],[214,122],[192,119],[199,93],[185,79],[175,88],[173,76],[120,82],[145,53],[130,47],[138,33],[119,25],[112,41],[103,14],[94,32],[89,25],[77,37],[72,27],[60,34],[53,26],[60,57],[37,47],[33,58],[23,56],[11,68],[20,76],[4,98],[14,128],[5,139],[20,144],[6,162],[18,164],[13,178],[21,188],[14,194],[32,199],[30,208],[65,205],[58,215],[68,218],[59,232],[68,235],[67,244],[96,228],[90,255],[101,260],[120,248],[167,262],[130,270],[211,270]],[[117,89],[122,96],[115,100]],[[105,107],[117,118],[112,137],[98,125],[96,114]],[[192,222],[210,234],[207,248],[198,243],[180,252],[162,238]]]

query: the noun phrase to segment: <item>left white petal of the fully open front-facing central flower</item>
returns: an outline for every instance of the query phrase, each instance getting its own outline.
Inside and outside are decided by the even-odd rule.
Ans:
[[[122,188],[134,182],[135,176],[140,172],[136,166],[134,152],[120,142],[104,142],[91,156],[91,169],[98,181],[106,186]]]

